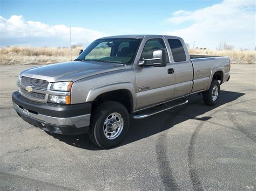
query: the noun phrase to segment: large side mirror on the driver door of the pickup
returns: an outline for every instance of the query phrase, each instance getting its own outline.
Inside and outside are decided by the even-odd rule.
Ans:
[[[139,61],[139,66],[154,66],[154,67],[166,66],[165,52],[162,49],[153,51],[153,58],[143,59],[142,61]]]

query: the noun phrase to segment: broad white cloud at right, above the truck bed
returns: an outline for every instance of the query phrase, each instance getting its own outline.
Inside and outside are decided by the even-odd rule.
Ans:
[[[219,4],[196,11],[173,12],[165,22],[172,25],[185,22],[190,26],[164,34],[180,36],[193,46],[216,48],[222,42],[235,48],[255,47],[255,2],[254,0],[225,0]]]

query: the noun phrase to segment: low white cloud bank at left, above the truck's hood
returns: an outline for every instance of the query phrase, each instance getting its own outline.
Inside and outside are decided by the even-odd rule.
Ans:
[[[41,22],[26,21],[22,16],[5,19],[0,16],[0,45],[30,46],[69,46],[70,27],[65,25],[50,26]],[[72,44],[83,45],[105,36],[99,31],[82,27],[71,27]]]

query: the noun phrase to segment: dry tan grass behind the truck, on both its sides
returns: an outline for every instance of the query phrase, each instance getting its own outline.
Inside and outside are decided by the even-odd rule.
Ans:
[[[83,47],[73,47],[72,59]],[[190,54],[228,56],[232,63],[256,63],[256,51],[189,49]],[[0,65],[49,64],[70,61],[70,48],[13,46],[0,48]]]

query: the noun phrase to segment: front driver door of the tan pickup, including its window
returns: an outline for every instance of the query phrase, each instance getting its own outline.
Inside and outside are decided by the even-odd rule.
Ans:
[[[170,62],[164,38],[152,38],[142,42],[143,50],[139,61],[153,58],[153,51],[163,49],[167,65],[164,67],[134,66],[136,74],[136,110],[166,102],[174,96],[174,67]]]

